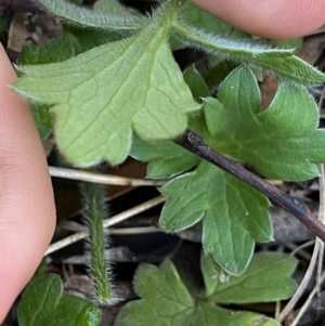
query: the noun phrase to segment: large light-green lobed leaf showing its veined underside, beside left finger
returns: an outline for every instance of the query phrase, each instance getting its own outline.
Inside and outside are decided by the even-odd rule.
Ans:
[[[26,76],[14,89],[54,104],[57,146],[70,162],[116,165],[129,154],[132,129],[154,141],[186,128],[186,114],[198,104],[171,55],[164,18],[64,63],[20,68]]]

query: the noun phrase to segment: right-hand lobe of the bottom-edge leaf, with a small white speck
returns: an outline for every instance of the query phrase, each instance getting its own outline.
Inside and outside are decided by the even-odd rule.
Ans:
[[[216,268],[210,257],[202,258],[202,271],[210,301],[219,303],[269,302],[290,298],[297,284],[289,276],[297,260],[280,252],[261,252],[253,256],[240,276],[226,276]],[[212,289],[210,286],[212,285]]]

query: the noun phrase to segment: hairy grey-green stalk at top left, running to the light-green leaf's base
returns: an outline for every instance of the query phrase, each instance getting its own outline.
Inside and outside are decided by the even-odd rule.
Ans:
[[[133,15],[105,14],[65,0],[36,0],[36,2],[66,23],[98,29],[136,30],[147,19]]]

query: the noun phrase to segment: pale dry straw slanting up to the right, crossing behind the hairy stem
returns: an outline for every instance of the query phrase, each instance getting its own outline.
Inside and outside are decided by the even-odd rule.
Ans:
[[[138,205],[131,209],[128,209],[115,217],[112,217],[112,218],[105,220],[103,223],[103,226],[108,227],[110,225],[115,225],[123,220],[134,217],[135,214],[138,214],[140,212],[143,212],[152,207],[155,207],[155,206],[164,203],[165,200],[166,200],[166,197],[164,197],[164,196],[158,196],[154,199],[147,200],[141,205]],[[62,248],[70,245],[70,244],[74,244],[78,240],[81,240],[81,239],[86,238],[87,236],[88,236],[88,232],[84,232],[84,231],[75,233],[57,243],[50,245],[47,252],[44,253],[44,256],[52,253],[58,249],[62,249]]]

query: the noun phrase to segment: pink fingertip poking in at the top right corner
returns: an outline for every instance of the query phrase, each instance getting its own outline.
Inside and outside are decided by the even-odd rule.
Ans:
[[[252,35],[270,39],[306,35],[325,23],[324,0],[193,0]]]

